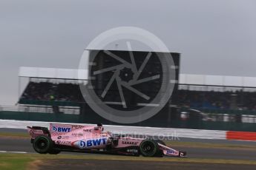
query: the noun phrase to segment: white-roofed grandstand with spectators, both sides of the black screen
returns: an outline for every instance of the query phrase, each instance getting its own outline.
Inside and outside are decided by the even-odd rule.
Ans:
[[[20,77],[29,78],[24,92],[19,98],[20,104],[31,105],[45,105],[45,106],[79,106],[80,103],[85,103],[79,89],[79,81],[75,78],[59,78],[50,77],[43,72],[36,75],[36,78],[31,75],[25,75],[24,70],[31,68],[22,67]],[[34,68],[42,69],[50,72],[47,68]],[[76,72],[72,69],[56,69],[59,72]],[[52,72],[56,72],[52,69]],[[30,70],[31,71],[31,70]],[[36,71],[38,72],[38,71]],[[50,74],[54,75],[54,74]],[[48,76],[48,78],[47,78]],[[203,84],[204,81],[194,82],[198,77],[212,81],[213,75],[185,75],[180,74],[181,82],[175,98],[177,106],[189,107],[193,109],[219,109],[225,111],[229,110],[245,110],[256,111],[256,87],[252,86],[255,78],[242,78],[229,76],[216,76],[213,84]],[[188,81],[185,81],[188,79]],[[195,78],[193,78],[195,77]],[[238,80],[239,81],[225,82],[225,80]],[[193,82],[189,81],[193,80]],[[220,83],[222,80],[223,82]],[[243,84],[241,83],[243,82]],[[220,85],[222,84],[222,85]],[[255,81],[256,84],[256,81]]]

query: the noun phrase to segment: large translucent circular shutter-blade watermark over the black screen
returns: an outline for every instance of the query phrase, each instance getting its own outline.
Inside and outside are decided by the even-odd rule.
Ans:
[[[123,43],[126,50],[109,50]],[[133,42],[148,47],[133,50]],[[134,45],[135,47],[136,45]],[[79,78],[86,103],[117,123],[137,123],[156,115],[169,101],[175,84],[174,61],[160,38],[137,27],[117,27],[98,35],[82,55]]]

